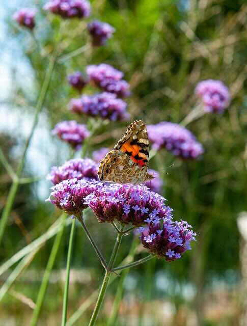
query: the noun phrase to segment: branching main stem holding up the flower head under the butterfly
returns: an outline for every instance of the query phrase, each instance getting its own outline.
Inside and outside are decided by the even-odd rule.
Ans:
[[[115,262],[115,259],[116,259],[116,256],[117,256],[117,253],[118,253],[118,250],[119,250],[119,246],[120,246],[120,243],[121,243],[121,240],[122,240],[122,237],[123,237],[123,228],[124,227],[122,226],[120,232],[118,233],[118,236],[117,236],[114,248],[113,248],[113,252],[112,252],[109,264],[108,264],[108,268],[105,271],[105,276],[104,276],[104,279],[103,279],[103,282],[102,282],[101,290],[99,292],[98,300],[97,300],[96,306],[94,308],[94,311],[93,311],[93,314],[92,314],[92,317],[91,317],[91,320],[90,320],[88,326],[93,326],[95,324],[95,322],[96,322],[97,317],[98,317],[99,310],[100,310],[102,302],[104,300],[104,295],[105,295],[105,292],[106,292],[106,289],[107,289],[107,285],[108,285],[109,279],[110,279],[111,274],[112,274],[112,267],[113,267],[113,264]]]

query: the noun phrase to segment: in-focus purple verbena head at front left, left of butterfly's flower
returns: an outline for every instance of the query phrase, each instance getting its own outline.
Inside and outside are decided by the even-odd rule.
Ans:
[[[101,183],[95,180],[76,178],[64,180],[51,187],[52,192],[47,201],[68,214],[80,216],[83,209],[88,207],[85,198],[100,186]]]

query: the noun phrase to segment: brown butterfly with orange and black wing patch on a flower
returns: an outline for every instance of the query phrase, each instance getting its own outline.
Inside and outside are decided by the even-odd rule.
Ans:
[[[114,147],[100,161],[101,181],[143,183],[153,179],[148,174],[149,140],[147,127],[141,120],[132,122]]]

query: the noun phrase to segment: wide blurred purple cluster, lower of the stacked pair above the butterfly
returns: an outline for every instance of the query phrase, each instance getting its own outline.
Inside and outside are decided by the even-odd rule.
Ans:
[[[129,118],[126,112],[127,104],[117,98],[116,94],[100,93],[95,95],[83,95],[81,98],[72,98],[69,110],[74,113],[84,113],[92,117],[99,116],[102,119],[112,121],[124,121]]]

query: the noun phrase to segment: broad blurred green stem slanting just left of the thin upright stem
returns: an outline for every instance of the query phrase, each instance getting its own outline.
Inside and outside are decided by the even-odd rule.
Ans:
[[[38,297],[37,297],[37,301],[36,301],[36,307],[34,309],[32,320],[31,320],[31,323],[30,323],[31,326],[36,326],[37,322],[38,322],[41,306],[42,306],[42,303],[44,301],[47,285],[48,285],[48,282],[49,282],[50,272],[51,272],[51,269],[52,269],[52,267],[54,265],[54,261],[55,261],[55,259],[57,257],[57,253],[58,253],[60,243],[61,243],[61,240],[62,240],[62,235],[63,235],[64,228],[65,228],[65,219],[66,219],[66,217],[67,217],[67,214],[63,214],[63,223],[61,225],[61,229],[57,233],[56,238],[54,239],[54,242],[53,242],[53,246],[52,246],[51,253],[50,253],[50,256],[49,256],[49,259],[48,259],[48,263],[46,265],[43,280],[42,280],[42,283],[41,283],[41,286],[40,286],[40,289],[39,289],[39,293],[38,293]]]

